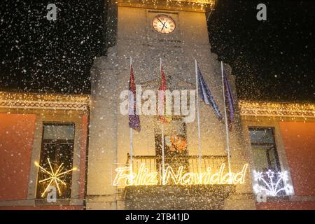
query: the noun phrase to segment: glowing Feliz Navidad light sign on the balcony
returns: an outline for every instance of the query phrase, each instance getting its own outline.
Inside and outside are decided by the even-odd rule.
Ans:
[[[176,168],[177,171],[174,172],[171,166],[166,165],[164,175],[161,175],[160,179],[159,173],[149,171],[146,164],[141,164],[137,173],[133,172],[130,166],[118,167],[115,169],[113,186],[243,184],[247,167],[248,164],[245,164],[240,172],[224,172],[225,164],[222,164],[220,170],[213,173],[210,167],[206,172],[184,172],[183,166]]]

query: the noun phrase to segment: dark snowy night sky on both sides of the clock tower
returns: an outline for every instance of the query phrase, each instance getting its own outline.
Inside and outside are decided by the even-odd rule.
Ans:
[[[57,21],[46,20],[56,3]],[[267,21],[256,20],[258,3]],[[102,0],[0,1],[0,90],[90,92],[102,55]],[[241,99],[315,102],[315,1],[218,0],[211,50],[232,66]]]

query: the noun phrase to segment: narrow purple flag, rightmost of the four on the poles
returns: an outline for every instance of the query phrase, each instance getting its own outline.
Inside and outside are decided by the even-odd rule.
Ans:
[[[224,83],[224,94],[225,94],[225,110],[228,118],[228,127],[232,131],[232,123],[234,120],[234,99],[228,78],[223,69],[223,83]]]

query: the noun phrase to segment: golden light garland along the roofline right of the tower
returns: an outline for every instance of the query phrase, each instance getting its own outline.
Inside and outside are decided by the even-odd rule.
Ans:
[[[239,101],[241,116],[315,118],[315,104]]]

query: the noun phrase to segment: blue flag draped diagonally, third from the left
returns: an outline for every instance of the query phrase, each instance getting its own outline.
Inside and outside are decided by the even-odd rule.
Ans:
[[[197,76],[198,76],[199,99],[200,101],[203,101],[205,104],[210,105],[211,108],[214,110],[214,114],[216,115],[218,120],[221,121],[223,120],[223,116],[220,110],[218,109],[218,105],[216,105],[216,102],[214,101],[214,97],[212,96],[207,83],[204,81],[204,77],[202,77],[202,73],[199,67],[197,67],[197,69],[198,69]]]

